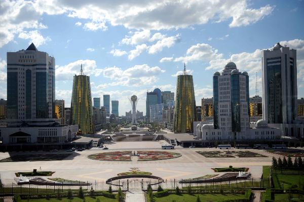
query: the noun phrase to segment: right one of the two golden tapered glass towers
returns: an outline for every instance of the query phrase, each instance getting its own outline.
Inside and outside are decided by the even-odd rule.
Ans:
[[[193,132],[193,122],[197,119],[193,77],[186,72],[177,76],[174,113],[174,132]]]

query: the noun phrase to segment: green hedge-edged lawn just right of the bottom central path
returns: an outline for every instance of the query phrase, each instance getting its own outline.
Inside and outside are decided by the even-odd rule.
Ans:
[[[196,202],[197,200],[197,195],[189,195],[189,194],[181,194],[181,195],[176,195],[176,194],[170,194],[168,196],[164,197],[154,197],[156,202],[171,202],[172,200],[175,200],[176,202]],[[239,199],[239,198],[245,198],[246,194],[199,194],[201,201],[223,201],[227,199]],[[248,196],[249,197],[249,196]],[[148,198],[148,197],[147,197]],[[26,202],[26,201],[24,201]],[[147,200],[149,202],[149,199]]]

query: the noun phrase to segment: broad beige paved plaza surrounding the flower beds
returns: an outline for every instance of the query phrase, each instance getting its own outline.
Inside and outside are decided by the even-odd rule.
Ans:
[[[268,157],[204,157],[196,151],[218,151],[216,148],[182,148],[176,147],[174,151],[182,154],[181,157],[150,160],[150,161],[104,161],[89,159],[87,156],[99,152],[119,151],[119,150],[157,150],[161,145],[166,144],[164,141],[150,142],[111,142],[106,144],[108,150],[92,148],[85,151],[75,151],[64,160],[54,161],[26,161],[26,162],[5,162],[0,163],[0,174],[3,183],[14,182],[16,172],[32,171],[33,169],[42,171],[54,171],[53,177],[64,178],[68,180],[80,181],[105,181],[110,177],[115,177],[122,172],[128,172],[131,168],[138,168],[140,171],[150,172],[154,176],[163,179],[187,179],[214,174],[211,168],[220,167],[248,167],[253,177],[261,177],[262,166],[271,165],[272,156],[279,157],[277,154],[271,154],[263,150],[249,150],[260,153]],[[231,149],[233,150],[233,149]],[[37,154],[37,153],[67,153],[65,150],[59,152],[11,152],[0,153],[0,159],[7,158],[16,154]]]

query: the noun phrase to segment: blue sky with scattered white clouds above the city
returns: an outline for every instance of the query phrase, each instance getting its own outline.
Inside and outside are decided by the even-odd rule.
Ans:
[[[7,52],[34,43],[56,60],[56,99],[70,106],[72,80],[83,65],[92,98],[109,94],[119,114],[145,114],[146,92],[175,92],[184,63],[197,105],[212,97],[212,76],[229,61],[249,74],[259,96],[261,50],[297,49],[298,98],[304,97],[304,0],[0,0],[0,98],[7,98]]]

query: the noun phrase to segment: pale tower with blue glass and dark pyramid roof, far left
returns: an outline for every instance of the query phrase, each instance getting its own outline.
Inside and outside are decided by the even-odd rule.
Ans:
[[[8,52],[7,63],[8,126],[54,124],[55,58],[32,43]]]

